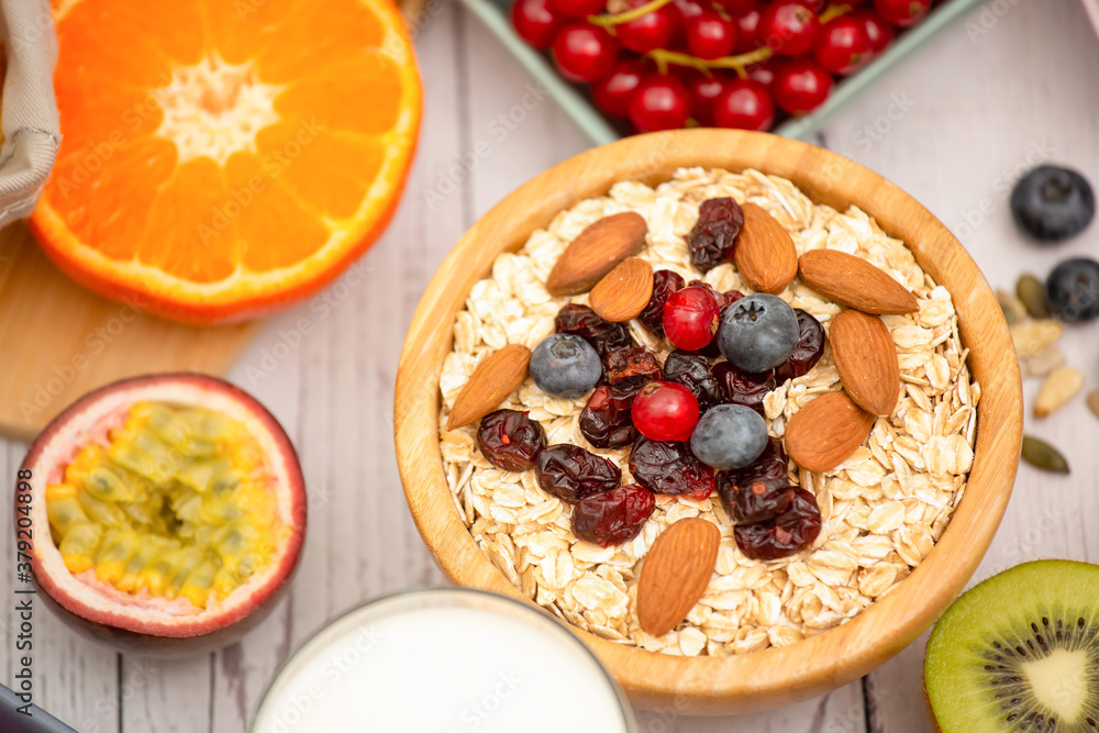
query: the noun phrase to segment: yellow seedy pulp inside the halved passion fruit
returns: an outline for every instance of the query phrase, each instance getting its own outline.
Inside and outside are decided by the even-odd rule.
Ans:
[[[66,568],[125,593],[206,608],[278,544],[263,449],[243,424],[195,407],[140,402],[108,445],[91,443],[46,487]]]

